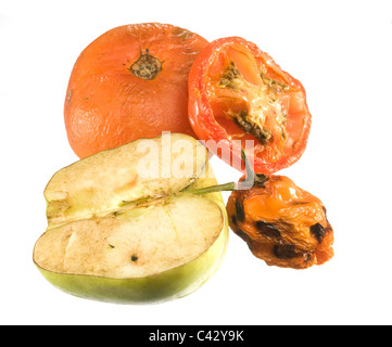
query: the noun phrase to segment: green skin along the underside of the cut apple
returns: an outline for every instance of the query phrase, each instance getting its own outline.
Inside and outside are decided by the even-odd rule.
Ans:
[[[66,274],[47,271],[41,274],[63,292],[92,300],[113,304],[160,304],[185,297],[199,290],[222,265],[228,245],[229,228],[220,193],[207,198],[219,205],[224,215],[224,229],[214,244],[191,262],[154,275],[136,279],[109,279],[93,275]]]

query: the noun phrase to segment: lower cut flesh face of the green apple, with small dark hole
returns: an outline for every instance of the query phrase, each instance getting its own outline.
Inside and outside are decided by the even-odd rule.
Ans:
[[[50,229],[35,246],[35,261],[60,273],[142,278],[194,260],[224,228],[219,206],[191,194],[143,209]]]

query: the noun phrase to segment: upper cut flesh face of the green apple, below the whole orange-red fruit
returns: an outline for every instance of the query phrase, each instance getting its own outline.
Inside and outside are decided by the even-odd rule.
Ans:
[[[49,181],[45,191],[49,227],[115,210],[123,202],[178,192],[201,176],[206,160],[205,147],[179,133],[94,154]]]

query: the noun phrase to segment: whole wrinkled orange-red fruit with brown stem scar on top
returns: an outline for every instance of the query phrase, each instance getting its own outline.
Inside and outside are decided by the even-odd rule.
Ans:
[[[162,131],[195,137],[188,74],[208,42],[168,24],[113,28],[92,41],[71,74],[64,120],[80,158]]]

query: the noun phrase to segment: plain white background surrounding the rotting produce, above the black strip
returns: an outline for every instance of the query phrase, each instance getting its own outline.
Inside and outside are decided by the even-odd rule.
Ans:
[[[112,27],[161,22],[207,40],[241,36],[300,79],[313,114],[303,157],[280,174],[320,197],[336,257],[269,268],[231,233],[201,290],[152,306],[69,296],[31,254],[45,231],[43,189],[77,159],[63,124],[72,67]],[[391,1],[1,1],[2,324],[391,324]],[[213,160],[220,183],[239,175]],[[225,200],[228,194],[224,195]]]

